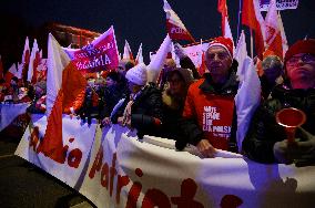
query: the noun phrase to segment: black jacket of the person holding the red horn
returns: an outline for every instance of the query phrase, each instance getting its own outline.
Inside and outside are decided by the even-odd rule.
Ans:
[[[243,150],[248,158],[261,163],[275,163],[273,146],[276,142],[286,139],[285,129],[276,123],[275,114],[285,107],[302,110],[307,117],[302,127],[315,134],[315,89],[305,91],[276,86],[272,98],[257,108],[243,141]]]

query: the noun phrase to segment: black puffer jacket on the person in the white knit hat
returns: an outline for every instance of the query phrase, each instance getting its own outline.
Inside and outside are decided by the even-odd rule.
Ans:
[[[161,90],[155,84],[150,83],[141,91],[131,107],[131,126],[136,128],[139,138],[142,138],[145,134],[159,136],[161,126],[155,124],[154,118],[163,123]],[[118,117],[123,115],[128,102],[126,98],[112,116],[112,123],[118,123]]]

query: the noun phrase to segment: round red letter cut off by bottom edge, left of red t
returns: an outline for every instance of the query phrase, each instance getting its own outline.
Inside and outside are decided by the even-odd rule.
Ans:
[[[145,193],[145,196],[142,201],[143,208],[169,208],[171,207],[171,202],[169,197],[159,189],[152,188]]]

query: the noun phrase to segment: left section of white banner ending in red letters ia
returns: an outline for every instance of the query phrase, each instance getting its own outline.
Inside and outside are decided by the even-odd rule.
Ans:
[[[64,155],[61,163],[54,162],[40,150],[41,139],[47,128],[47,116],[33,114],[16,155],[34,164],[61,181],[75,188],[83,171],[94,141],[96,124],[90,126],[80,119],[63,115],[62,136]],[[83,175],[84,176],[84,175]]]

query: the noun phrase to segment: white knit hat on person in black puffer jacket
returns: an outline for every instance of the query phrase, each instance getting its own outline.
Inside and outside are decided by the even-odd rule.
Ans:
[[[140,63],[125,73],[125,79],[140,86],[145,85],[148,81],[146,65]]]

